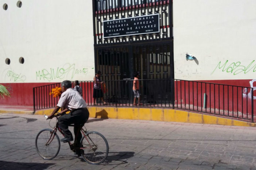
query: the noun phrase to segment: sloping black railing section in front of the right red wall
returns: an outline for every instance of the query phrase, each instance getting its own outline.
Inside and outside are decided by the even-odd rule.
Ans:
[[[253,88],[175,79],[174,107],[253,122]]]

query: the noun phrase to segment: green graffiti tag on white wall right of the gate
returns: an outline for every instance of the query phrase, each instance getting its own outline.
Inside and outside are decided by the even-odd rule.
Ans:
[[[232,62],[231,64],[228,63],[229,61],[226,60],[226,62],[222,65],[221,61],[217,64],[216,68],[213,70],[211,74],[215,72],[215,70],[222,69],[222,72],[231,73],[233,75],[237,75],[239,73],[248,73],[249,71],[256,72],[256,63],[255,60],[250,62],[247,66],[241,64],[240,61]]]

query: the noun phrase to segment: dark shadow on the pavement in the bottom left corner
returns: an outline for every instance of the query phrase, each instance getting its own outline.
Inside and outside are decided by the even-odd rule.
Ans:
[[[44,169],[48,169],[52,165],[54,165],[54,163],[28,163],[28,162],[0,161],[1,170],[5,170],[5,169],[44,170]]]

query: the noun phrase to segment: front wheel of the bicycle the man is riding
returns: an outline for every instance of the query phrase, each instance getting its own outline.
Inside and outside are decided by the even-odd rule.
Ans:
[[[35,146],[36,151],[43,159],[55,158],[61,147],[59,137],[56,133],[52,133],[51,129],[43,129],[36,135]]]

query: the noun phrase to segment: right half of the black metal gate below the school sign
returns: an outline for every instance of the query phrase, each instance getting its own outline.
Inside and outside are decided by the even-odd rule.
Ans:
[[[140,73],[143,80],[168,79],[173,77],[173,57],[171,56],[171,45],[167,43],[133,45],[132,46],[133,68]],[[163,101],[163,96],[169,100],[171,98],[171,81],[147,81],[141,82],[141,93],[144,99],[150,103]],[[167,84],[166,84],[167,83]],[[160,98],[158,96],[161,96]]]

